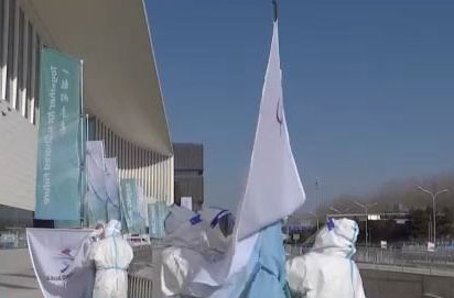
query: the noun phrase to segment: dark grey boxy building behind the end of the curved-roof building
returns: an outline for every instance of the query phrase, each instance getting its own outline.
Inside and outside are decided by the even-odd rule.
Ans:
[[[182,197],[190,197],[193,210],[201,210],[204,203],[204,147],[202,144],[174,143],[173,152],[175,203],[181,205]]]

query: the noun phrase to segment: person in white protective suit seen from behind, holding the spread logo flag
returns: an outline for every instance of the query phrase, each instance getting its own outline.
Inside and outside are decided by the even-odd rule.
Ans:
[[[96,265],[93,298],[127,298],[128,273],[133,253],[121,236],[121,223],[111,220],[106,227],[105,238],[94,243],[90,260]]]

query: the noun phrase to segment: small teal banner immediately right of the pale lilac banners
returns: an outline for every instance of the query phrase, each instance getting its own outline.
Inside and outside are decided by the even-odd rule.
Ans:
[[[142,222],[139,212],[137,181],[136,179],[121,179],[121,218],[125,220],[127,230],[131,234],[142,231]]]

